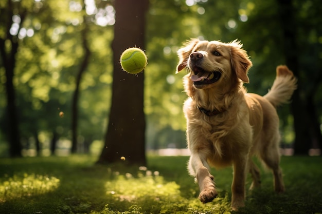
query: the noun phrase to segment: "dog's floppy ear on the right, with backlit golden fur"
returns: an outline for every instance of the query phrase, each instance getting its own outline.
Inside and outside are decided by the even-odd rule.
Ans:
[[[239,79],[244,83],[249,83],[247,72],[252,67],[252,62],[248,59],[247,52],[242,48],[240,41],[234,40],[229,43],[231,47],[231,66],[235,70]]]

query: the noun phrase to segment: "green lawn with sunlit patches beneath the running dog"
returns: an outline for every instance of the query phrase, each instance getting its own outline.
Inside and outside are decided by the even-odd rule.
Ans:
[[[322,213],[321,157],[282,157],[287,192],[270,172],[230,210],[231,168],[212,171],[219,191],[202,204],[186,170],[188,157],[148,157],[148,167],[94,165],[96,157],[0,159],[0,213]],[[251,180],[247,180],[247,188]]]

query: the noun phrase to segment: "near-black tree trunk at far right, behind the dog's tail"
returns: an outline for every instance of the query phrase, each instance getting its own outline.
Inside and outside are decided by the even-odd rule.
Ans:
[[[294,75],[299,78],[298,89],[293,94],[292,111],[294,116],[294,128],[295,128],[295,142],[294,142],[294,153],[307,155],[308,151],[314,145],[319,146],[322,144],[322,137],[319,128],[319,122],[316,116],[316,110],[313,102],[313,97],[318,85],[322,81],[322,74],[320,71],[315,71],[317,75],[312,76],[313,78],[309,83],[306,84],[305,89],[305,77],[311,76],[312,74],[308,71],[304,71],[306,74],[302,74],[300,66],[299,50],[304,51],[306,44],[302,48],[299,48],[298,32],[299,26],[298,18],[295,16],[294,1],[285,0],[277,1],[279,6],[280,23],[283,32],[283,50],[285,56],[285,62],[293,71]],[[315,11],[313,11],[315,12]],[[317,14],[316,14],[317,15]],[[316,18],[316,17],[315,17]],[[316,46],[319,46],[316,44]],[[308,51],[308,54],[310,52]],[[313,63],[311,61],[311,63]],[[318,65],[316,65],[318,67]],[[310,69],[307,67],[306,69]],[[313,72],[312,72],[313,73]],[[311,85],[310,85],[311,84]],[[306,94],[306,96],[301,96]]]

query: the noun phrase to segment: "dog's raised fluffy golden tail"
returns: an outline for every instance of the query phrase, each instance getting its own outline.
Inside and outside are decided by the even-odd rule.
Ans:
[[[264,98],[270,101],[273,106],[288,103],[294,90],[297,88],[297,79],[293,72],[285,65],[277,66],[276,79],[271,90],[264,95]]]

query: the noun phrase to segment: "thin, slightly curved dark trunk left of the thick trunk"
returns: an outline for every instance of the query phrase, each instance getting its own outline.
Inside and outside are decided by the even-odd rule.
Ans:
[[[83,3],[83,10],[85,11],[85,4]],[[85,12],[84,12],[85,13]],[[86,23],[86,16],[83,16],[83,29],[81,30],[81,37],[82,37],[82,45],[84,50],[84,57],[81,63],[81,66],[78,70],[78,74],[76,77],[76,88],[73,94],[73,103],[71,104],[71,132],[72,132],[72,139],[71,139],[71,153],[77,152],[77,127],[78,127],[78,100],[79,100],[79,87],[82,80],[82,76],[84,71],[88,66],[88,61],[90,60],[91,51],[87,44],[87,32],[88,32],[88,25]]]

